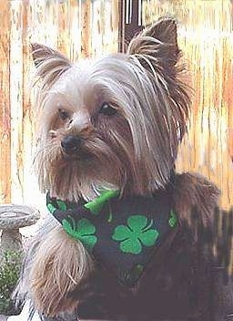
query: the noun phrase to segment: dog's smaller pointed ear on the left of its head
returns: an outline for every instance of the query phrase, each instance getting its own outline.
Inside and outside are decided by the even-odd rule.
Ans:
[[[47,85],[52,84],[72,63],[58,51],[44,45],[31,44],[32,57],[37,69],[37,76],[44,78]]]

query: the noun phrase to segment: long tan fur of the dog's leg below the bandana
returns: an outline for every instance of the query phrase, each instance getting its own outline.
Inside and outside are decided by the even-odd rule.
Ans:
[[[74,291],[91,269],[91,259],[82,243],[70,239],[62,227],[56,226],[39,244],[29,274],[35,308],[43,311],[46,306],[44,313],[48,316],[72,309],[67,294]]]

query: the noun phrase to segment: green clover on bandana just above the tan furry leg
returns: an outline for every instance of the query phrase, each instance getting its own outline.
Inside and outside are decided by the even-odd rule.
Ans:
[[[89,220],[83,218],[76,222],[76,220],[68,216],[62,221],[62,225],[70,236],[81,241],[88,250],[92,250],[97,242],[96,227],[90,223]]]

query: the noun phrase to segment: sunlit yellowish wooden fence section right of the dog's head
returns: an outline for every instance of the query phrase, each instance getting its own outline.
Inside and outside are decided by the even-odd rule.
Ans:
[[[232,5],[219,1],[143,1],[143,24],[175,16],[194,88],[188,136],[177,160],[178,171],[198,171],[233,205],[233,30]],[[204,195],[205,196],[205,195]]]

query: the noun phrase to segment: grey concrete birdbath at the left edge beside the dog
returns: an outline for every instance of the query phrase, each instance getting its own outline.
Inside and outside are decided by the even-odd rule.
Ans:
[[[39,211],[25,205],[0,205],[0,256],[5,251],[23,251],[21,227],[35,224],[39,219]]]

